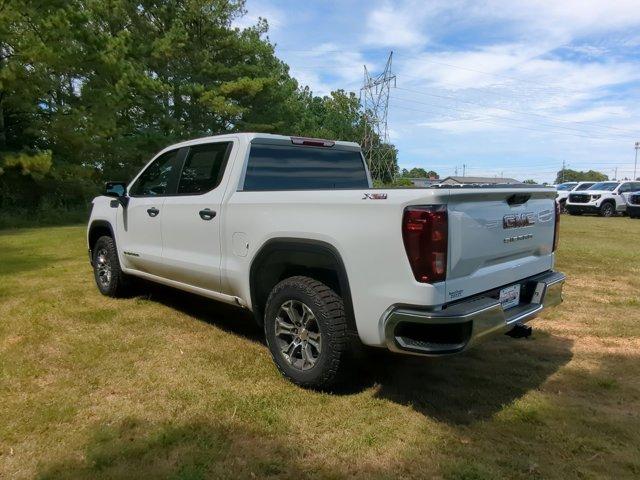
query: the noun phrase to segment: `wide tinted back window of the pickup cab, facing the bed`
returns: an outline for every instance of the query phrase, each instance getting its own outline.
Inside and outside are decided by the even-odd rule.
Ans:
[[[253,145],[245,191],[369,188],[359,152],[286,145]]]

